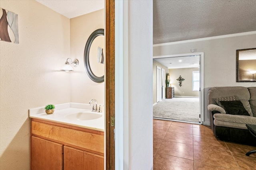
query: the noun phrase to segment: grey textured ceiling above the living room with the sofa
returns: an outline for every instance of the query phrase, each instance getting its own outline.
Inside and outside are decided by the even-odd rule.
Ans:
[[[256,0],[153,0],[153,44],[256,31]]]

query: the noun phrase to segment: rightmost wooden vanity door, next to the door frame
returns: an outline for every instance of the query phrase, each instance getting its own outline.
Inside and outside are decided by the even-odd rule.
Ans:
[[[104,156],[84,152],[84,170],[104,170]]]

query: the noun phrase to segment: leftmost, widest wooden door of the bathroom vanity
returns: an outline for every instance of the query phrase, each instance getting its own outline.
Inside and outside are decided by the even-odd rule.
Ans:
[[[31,137],[31,169],[62,170],[63,145]]]

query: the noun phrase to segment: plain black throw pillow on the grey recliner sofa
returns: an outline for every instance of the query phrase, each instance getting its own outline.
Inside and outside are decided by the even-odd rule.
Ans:
[[[240,100],[220,101],[220,103],[224,107],[226,114],[250,116]]]

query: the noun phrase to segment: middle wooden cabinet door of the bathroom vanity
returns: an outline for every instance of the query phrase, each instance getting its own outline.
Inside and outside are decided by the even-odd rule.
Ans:
[[[84,151],[64,146],[64,170],[84,170]]]

